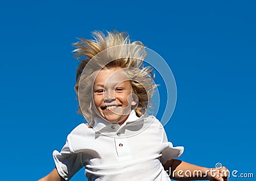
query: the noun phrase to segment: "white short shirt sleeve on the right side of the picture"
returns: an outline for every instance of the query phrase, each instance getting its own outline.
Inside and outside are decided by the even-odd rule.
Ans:
[[[161,162],[165,164],[167,161],[171,159],[176,159],[182,153],[184,152],[184,147],[183,146],[173,146],[170,141],[168,141],[166,132],[163,129],[163,135],[162,135],[162,142],[165,145],[163,151],[162,151],[162,157],[161,157]]]

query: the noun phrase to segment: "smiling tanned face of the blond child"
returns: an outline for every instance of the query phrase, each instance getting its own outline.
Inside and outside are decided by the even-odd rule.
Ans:
[[[136,106],[131,83],[121,68],[99,71],[93,84],[93,101],[102,118],[119,124],[128,118],[131,106]]]

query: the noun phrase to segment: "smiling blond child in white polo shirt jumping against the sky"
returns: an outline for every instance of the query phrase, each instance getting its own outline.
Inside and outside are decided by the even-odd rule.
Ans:
[[[209,169],[176,160],[184,148],[168,142],[154,116],[144,116],[156,85],[152,69],[142,65],[143,44],[118,31],[93,35],[95,40],[74,44],[81,60],[75,90],[88,124],[78,125],[61,152],[53,152],[56,168],[41,181],[69,180],[83,166],[88,180],[98,181],[227,177],[224,167]]]

